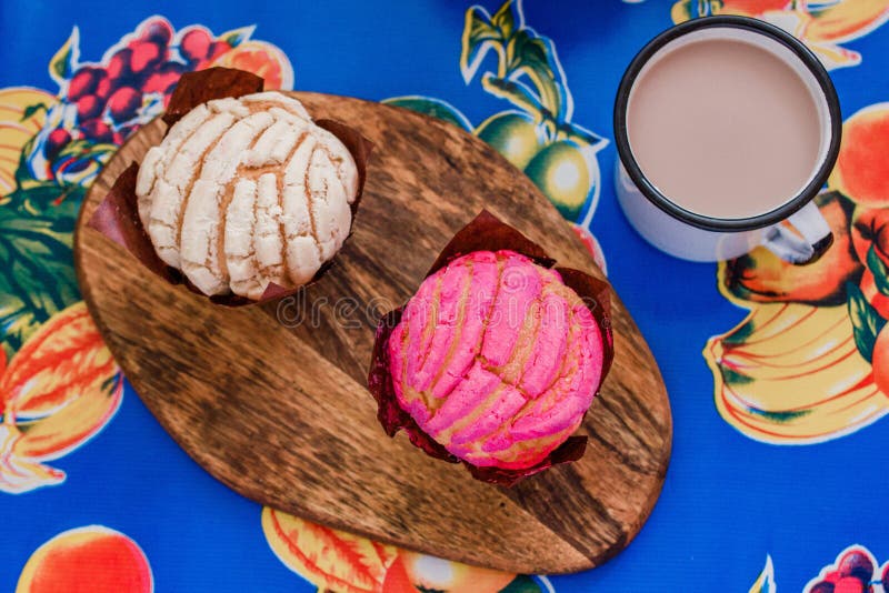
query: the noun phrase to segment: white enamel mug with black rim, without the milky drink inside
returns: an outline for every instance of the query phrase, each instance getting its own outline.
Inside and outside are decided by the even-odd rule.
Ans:
[[[821,130],[817,164],[806,187],[770,212],[746,219],[719,219],[688,211],[658,191],[633,158],[627,133],[627,108],[636,80],[671,51],[703,39],[757,44],[799,73],[815,99]],[[833,168],[841,133],[837,91],[821,62],[803,43],[757,19],[722,16],[695,19],[652,39],[630,62],[620,82],[615,102],[615,139],[620,157],[615,171],[618,201],[639,234],[677,258],[728,260],[763,245],[788,262],[811,263],[833,242],[830,228],[812,199]],[[782,224],[785,221],[799,233]]]

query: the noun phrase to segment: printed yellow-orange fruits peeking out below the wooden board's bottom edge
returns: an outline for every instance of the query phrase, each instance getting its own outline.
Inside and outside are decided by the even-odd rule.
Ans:
[[[319,587],[338,593],[540,593],[527,576],[382,545],[262,509],[262,531],[278,559]]]

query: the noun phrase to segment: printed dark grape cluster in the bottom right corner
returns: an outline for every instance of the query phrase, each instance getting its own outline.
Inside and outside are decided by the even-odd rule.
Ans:
[[[809,581],[803,593],[889,592],[889,562],[879,567],[868,549],[850,545]]]

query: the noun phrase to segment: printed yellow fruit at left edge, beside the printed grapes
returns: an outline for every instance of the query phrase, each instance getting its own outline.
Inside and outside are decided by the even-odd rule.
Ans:
[[[47,108],[57,102],[54,96],[29,87],[0,89],[0,195],[16,189],[16,169],[24,144],[40,131],[47,112],[38,109],[22,121],[24,110],[37,104]]]

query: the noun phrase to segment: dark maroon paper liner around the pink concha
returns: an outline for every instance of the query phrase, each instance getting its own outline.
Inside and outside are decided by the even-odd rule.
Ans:
[[[427,272],[426,278],[436,273],[451,260],[467,253],[473,251],[499,250],[516,251],[545,268],[551,269],[556,264],[556,260],[550,258],[540,245],[512,227],[506,224],[487,210],[482,210],[472,222],[453,235],[432,264],[432,268]],[[578,293],[596,318],[599,330],[602,333],[602,375],[599,380],[599,385],[596,386],[598,394],[599,388],[601,388],[615,358],[615,341],[610,319],[610,285],[580,270],[556,268],[556,271],[562,275],[565,284]],[[410,439],[410,442],[424,451],[429,456],[450,463],[462,463],[476,480],[507,488],[513,486],[526,478],[548,470],[553,465],[570,463],[583,456],[583,452],[587,448],[587,438],[577,435],[569,436],[568,440],[536,465],[521,470],[480,468],[467,461],[462,461],[448,452],[444,446],[423,432],[408,412],[401,409],[398,403],[398,398],[396,396],[392,375],[390,373],[391,366],[388,345],[392,332],[401,322],[403,310],[404,308],[401,306],[390,311],[380,319],[377,325],[370,371],[368,372],[368,390],[377,401],[377,420],[379,420],[386,434],[394,436],[398,431],[403,430],[408,439]]]

